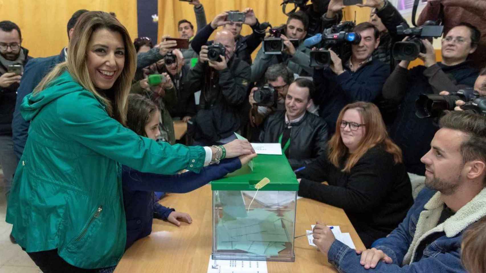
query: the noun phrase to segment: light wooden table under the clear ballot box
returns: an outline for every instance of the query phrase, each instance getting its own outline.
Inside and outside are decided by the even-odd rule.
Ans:
[[[211,186],[191,193],[171,193],[161,201],[164,206],[191,215],[192,224],[177,227],[154,219],[152,234],[136,241],[123,255],[115,273],[206,273],[212,249]],[[316,220],[340,225],[349,232],[358,249],[364,249],[343,209],[311,199],[297,200],[295,235],[306,233]],[[267,262],[269,273],[337,272],[327,256],[310,246],[307,237],[295,239],[295,262]]]

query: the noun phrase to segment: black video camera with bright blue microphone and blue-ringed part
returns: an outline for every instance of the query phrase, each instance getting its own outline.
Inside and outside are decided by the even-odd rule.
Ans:
[[[351,54],[350,45],[359,44],[361,42],[361,35],[352,32],[355,24],[352,21],[342,22],[338,25],[332,26],[324,30],[322,34],[316,34],[304,41],[306,47],[317,45],[317,48],[325,48],[324,50],[311,51],[311,67],[324,67],[331,63],[329,49],[336,52],[341,58],[349,58]]]

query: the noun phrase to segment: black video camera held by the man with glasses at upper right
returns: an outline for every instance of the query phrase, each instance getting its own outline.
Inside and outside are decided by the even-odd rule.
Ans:
[[[426,21],[417,28],[407,28],[405,23],[397,26],[397,34],[409,36],[404,42],[397,42],[393,46],[392,55],[396,60],[413,61],[417,59],[418,53],[425,53],[426,49],[422,43],[423,38],[442,36],[444,26],[437,26],[434,21]]]

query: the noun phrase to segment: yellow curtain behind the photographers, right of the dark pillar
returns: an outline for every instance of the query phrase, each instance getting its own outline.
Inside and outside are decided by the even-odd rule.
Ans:
[[[255,11],[260,22],[268,21],[274,26],[278,26],[287,21],[287,16],[282,13],[280,6],[281,0],[200,0],[204,5],[206,11],[206,18],[208,23],[218,14],[226,10],[240,10],[250,7]],[[159,0],[158,3],[158,39],[164,34],[178,37],[177,22],[181,19],[188,19],[196,28],[196,16],[194,15],[193,5],[188,2],[179,0]],[[294,5],[287,6],[287,12],[291,10]],[[356,22],[361,23],[367,21],[369,18],[370,9],[360,8],[357,6],[346,7],[345,19],[354,20],[354,12],[356,11]],[[251,34],[251,28],[243,25],[242,35]],[[212,39],[213,35],[210,37]],[[253,52],[255,58],[258,49]]]

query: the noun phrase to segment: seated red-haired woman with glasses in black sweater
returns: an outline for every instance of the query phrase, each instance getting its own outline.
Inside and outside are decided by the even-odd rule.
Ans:
[[[344,209],[366,248],[397,227],[414,202],[401,150],[369,102],[341,110],[328,154],[297,177],[298,195]]]

